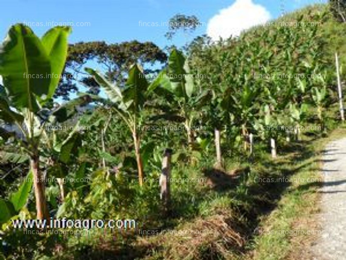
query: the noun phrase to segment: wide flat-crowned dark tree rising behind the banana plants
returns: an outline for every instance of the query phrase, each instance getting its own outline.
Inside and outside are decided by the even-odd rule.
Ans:
[[[105,42],[80,42],[69,46],[65,78],[60,82],[54,97],[68,100],[71,92],[78,90],[78,84],[88,88],[88,93],[98,94],[99,84],[83,70],[90,62],[97,62],[110,82],[124,86],[128,68],[138,63],[144,73],[156,71],[157,64],[165,63],[166,54],[152,42],[138,41],[107,44]],[[158,68],[160,69],[160,68]],[[72,75],[72,76],[71,76]],[[73,75],[75,77],[73,77]]]

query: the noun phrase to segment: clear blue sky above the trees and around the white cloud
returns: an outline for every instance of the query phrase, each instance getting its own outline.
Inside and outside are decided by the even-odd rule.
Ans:
[[[250,0],[238,0],[250,1]],[[0,37],[6,36],[8,28],[15,23],[90,23],[90,26],[73,27],[70,42],[101,41],[116,43],[122,41],[152,41],[160,47],[170,45],[164,34],[167,27],[139,26],[139,21],[167,21],[177,13],[196,15],[201,22],[208,21],[234,4],[235,0],[4,0],[1,2]],[[280,15],[280,0],[252,0],[263,6],[271,18]],[[284,0],[286,11],[298,9],[321,0]],[[322,2],[326,2],[323,0]],[[6,10],[6,11],[5,11]],[[242,16],[252,19],[248,14]],[[230,17],[229,24],[237,23]],[[36,34],[42,35],[47,26],[33,27]],[[207,26],[200,27],[194,34],[183,33],[173,39],[180,45],[194,36],[206,33]]]

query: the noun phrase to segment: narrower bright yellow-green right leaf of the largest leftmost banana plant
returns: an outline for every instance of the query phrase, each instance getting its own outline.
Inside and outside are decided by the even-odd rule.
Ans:
[[[61,75],[63,72],[68,49],[67,38],[70,33],[71,27],[57,26],[50,29],[42,37],[42,44],[51,62],[52,79],[49,85],[47,99],[53,96],[58,86],[60,78],[56,76]]]

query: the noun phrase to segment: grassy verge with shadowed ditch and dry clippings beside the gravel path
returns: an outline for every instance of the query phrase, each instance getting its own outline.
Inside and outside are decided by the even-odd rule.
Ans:
[[[181,211],[161,227],[151,229],[157,232],[154,235],[138,235],[138,231],[131,234],[126,245],[102,235],[89,257],[246,260],[301,259],[304,255],[308,259],[306,249],[316,235],[256,235],[254,230],[318,230],[311,215],[318,211],[316,191],[321,183],[264,183],[256,182],[255,177],[321,178],[321,153],[329,141],[342,136],[346,136],[346,129],[334,130],[328,138],[304,135],[300,142],[282,144],[285,153],[276,160],[257,149],[253,163],[237,162],[237,170],[231,168],[231,162],[228,171],[200,169],[208,184],[191,194],[195,209],[193,214],[189,210],[188,218]],[[202,176],[196,167],[185,170]]]

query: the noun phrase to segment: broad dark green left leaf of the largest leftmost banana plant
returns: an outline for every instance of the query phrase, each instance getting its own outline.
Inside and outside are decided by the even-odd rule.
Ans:
[[[27,26],[12,26],[0,46],[0,75],[11,104],[37,112],[36,97],[48,95],[51,79],[46,75],[50,72],[51,63],[39,38]]]

